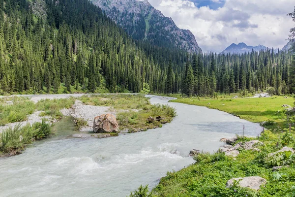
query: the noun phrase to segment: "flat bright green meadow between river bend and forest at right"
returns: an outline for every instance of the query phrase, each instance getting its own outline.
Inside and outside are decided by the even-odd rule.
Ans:
[[[179,98],[177,100],[171,100],[171,102],[180,102],[218,109],[254,123],[272,120],[276,123],[275,126],[278,126],[281,129],[286,126],[286,117],[283,113],[284,107],[282,107],[282,105],[294,105],[293,98],[284,99],[283,96],[237,99]]]

